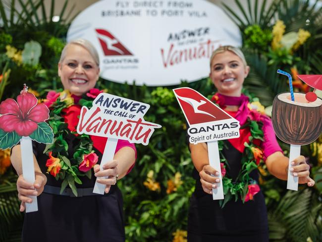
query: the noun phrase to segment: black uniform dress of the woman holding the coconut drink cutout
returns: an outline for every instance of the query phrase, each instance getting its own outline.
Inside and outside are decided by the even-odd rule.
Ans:
[[[230,178],[235,180],[241,169],[242,153],[228,141],[223,150],[230,169]],[[258,171],[250,174],[258,182]],[[263,193],[259,191],[254,200],[242,203],[230,200],[220,208],[213,195],[204,192],[200,176],[194,170],[196,188],[190,199],[188,215],[188,242],[268,242],[267,209]]]

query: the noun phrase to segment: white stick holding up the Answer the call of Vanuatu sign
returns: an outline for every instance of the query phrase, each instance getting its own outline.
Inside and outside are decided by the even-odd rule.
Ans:
[[[104,148],[104,153],[102,156],[102,161],[100,165],[100,171],[103,171],[103,165],[111,162],[114,158],[115,149],[117,145],[118,139],[107,138],[107,142]],[[104,177],[106,179],[106,177]],[[93,193],[104,194],[105,191],[105,184],[95,182]]]

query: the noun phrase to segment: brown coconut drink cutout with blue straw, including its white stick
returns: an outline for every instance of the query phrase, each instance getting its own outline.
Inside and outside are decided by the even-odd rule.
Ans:
[[[301,145],[310,144],[319,138],[322,132],[322,100],[314,92],[293,93],[292,77],[289,73],[277,70],[277,73],[288,76],[290,92],[276,95],[273,101],[271,119],[276,136],[285,143],[290,144],[287,189],[298,190],[298,177],[294,177],[290,168],[291,162],[300,156]],[[307,76],[298,75],[306,79]],[[322,76],[322,75],[314,75]],[[321,90],[322,78],[318,81],[310,78],[308,85]]]

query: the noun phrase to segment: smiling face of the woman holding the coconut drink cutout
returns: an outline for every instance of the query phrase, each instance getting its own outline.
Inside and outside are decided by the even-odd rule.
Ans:
[[[210,78],[218,92],[233,97],[240,97],[249,66],[233,52],[224,51],[215,55],[211,62]]]

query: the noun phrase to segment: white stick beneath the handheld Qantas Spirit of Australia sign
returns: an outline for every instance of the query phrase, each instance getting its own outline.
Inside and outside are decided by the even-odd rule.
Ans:
[[[208,146],[209,165],[219,173],[219,180],[220,180],[220,182],[216,183],[217,188],[213,188],[213,200],[223,199],[218,141],[207,142],[207,146]],[[215,176],[212,175],[212,177],[215,177]]]

